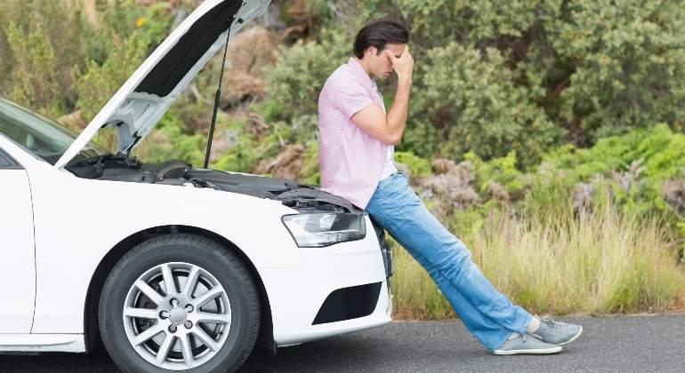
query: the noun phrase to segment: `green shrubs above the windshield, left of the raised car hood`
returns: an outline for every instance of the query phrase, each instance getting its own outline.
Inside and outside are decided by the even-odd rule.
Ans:
[[[6,22],[5,22],[6,20]],[[77,2],[0,4],[0,94],[52,116],[83,109],[92,119],[168,32],[168,4],[109,2],[86,20]]]

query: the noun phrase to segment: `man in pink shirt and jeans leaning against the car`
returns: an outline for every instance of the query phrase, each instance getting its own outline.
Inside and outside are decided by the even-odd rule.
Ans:
[[[433,217],[393,163],[407,122],[414,60],[407,28],[375,20],[359,30],[354,57],[326,80],[318,98],[321,188],[341,195],[391,234],[439,286],[474,337],[496,354],[558,353],[579,325],[538,319],[498,292],[471,252]],[[397,74],[390,111],[374,78]]]

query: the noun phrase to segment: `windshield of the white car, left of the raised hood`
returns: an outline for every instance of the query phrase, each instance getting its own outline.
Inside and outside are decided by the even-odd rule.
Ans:
[[[60,123],[5,99],[0,99],[0,133],[50,164],[56,163],[69,145],[77,139],[74,131]],[[106,153],[108,152],[90,142],[74,161]]]

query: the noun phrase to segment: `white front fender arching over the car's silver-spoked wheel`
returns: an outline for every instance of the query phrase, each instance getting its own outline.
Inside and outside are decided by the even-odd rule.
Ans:
[[[27,169],[36,225],[32,332],[83,332],[93,273],[118,242],[156,226],[195,226],[233,242],[257,271],[298,266],[277,201],[209,188],[79,179],[37,162]]]

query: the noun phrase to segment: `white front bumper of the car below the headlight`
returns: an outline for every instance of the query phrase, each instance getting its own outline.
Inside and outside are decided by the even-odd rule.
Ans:
[[[368,216],[365,218],[367,227],[370,227],[370,219]],[[387,259],[383,258],[374,231],[367,229],[366,237],[359,241],[342,242],[326,248],[301,248],[300,255],[301,266],[270,268],[262,274],[269,293],[274,340],[278,346],[296,345],[391,321]],[[326,302],[326,299],[335,298],[336,292],[340,295],[341,290],[360,290],[367,285],[380,286],[372,308],[361,313],[342,311],[334,318],[317,317],[326,303],[331,309],[330,300]],[[371,290],[367,294],[369,292],[375,294]],[[355,302],[354,299],[337,297],[333,306],[344,306],[345,302]],[[352,305],[351,308],[359,307]],[[344,319],[341,314],[364,315],[341,320]]]

